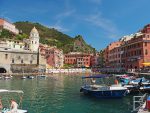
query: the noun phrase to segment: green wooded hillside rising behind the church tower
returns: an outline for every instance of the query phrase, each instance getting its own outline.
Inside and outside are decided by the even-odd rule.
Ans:
[[[48,28],[39,23],[32,23],[28,21],[16,22],[14,24],[20,31],[22,31],[22,33],[24,33],[24,35],[27,34],[28,36],[30,34],[31,29],[35,26],[39,31],[41,43],[50,46],[57,46],[59,49],[62,49],[64,53],[68,53],[72,51],[92,52],[94,50],[91,46],[86,44],[86,42],[83,40],[82,36],[80,35],[76,36],[75,38],[72,38],[66,34],[63,34],[62,32],[59,32],[54,28]],[[80,40],[82,46],[75,48],[76,40]]]

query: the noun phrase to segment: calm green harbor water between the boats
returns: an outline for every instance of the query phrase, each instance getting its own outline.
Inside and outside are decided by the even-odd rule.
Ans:
[[[132,95],[122,99],[96,99],[80,93],[81,85],[81,76],[73,74],[0,80],[0,89],[24,91],[22,108],[28,113],[131,113]]]

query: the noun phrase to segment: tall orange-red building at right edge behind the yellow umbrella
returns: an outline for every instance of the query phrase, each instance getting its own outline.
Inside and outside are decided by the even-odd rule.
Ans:
[[[139,69],[144,67],[143,63],[150,62],[150,24],[123,41],[121,50],[122,66],[126,70]]]

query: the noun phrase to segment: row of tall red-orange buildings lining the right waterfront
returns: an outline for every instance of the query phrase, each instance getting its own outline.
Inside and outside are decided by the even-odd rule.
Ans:
[[[137,33],[122,37],[104,49],[105,67],[139,70],[150,63],[150,24]]]

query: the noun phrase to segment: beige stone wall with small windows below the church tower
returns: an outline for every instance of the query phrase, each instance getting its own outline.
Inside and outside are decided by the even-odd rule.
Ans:
[[[12,72],[12,65],[37,65],[37,54],[29,51],[0,50],[0,67],[5,68],[7,72]],[[14,69],[16,68],[13,67],[13,71]]]

